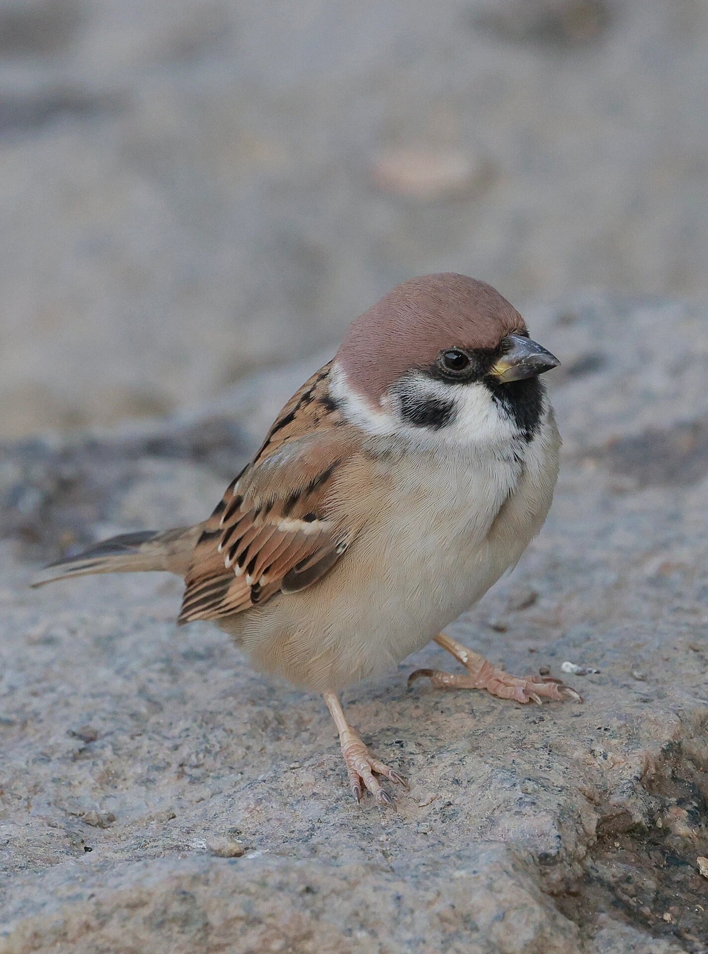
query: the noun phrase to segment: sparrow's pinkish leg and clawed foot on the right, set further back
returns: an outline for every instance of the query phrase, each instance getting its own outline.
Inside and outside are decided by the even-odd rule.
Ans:
[[[555,701],[575,699],[582,702],[582,697],[570,686],[564,685],[560,679],[550,675],[530,675],[519,678],[505,673],[492,666],[479,653],[472,653],[467,646],[451,639],[445,633],[435,636],[435,642],[457,659],[467,669],[467,674],[443,673],[439,669],[418,669],[408,676],[408,685],[423,675],[430,678],[435,689],[486,689],[491,695],[498,695],[501,699],[513,699],[514,702],[537,702],[543,698]]]

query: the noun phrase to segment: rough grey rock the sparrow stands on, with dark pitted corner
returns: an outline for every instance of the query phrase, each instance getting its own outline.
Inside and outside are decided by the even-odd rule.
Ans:
[[[201,417],[6,446],[0,492],[2,954],[708,950],[708,341],[698,306],[538,308],[565,437],[552,514],[452,628],[581,704],[398,673],[344,694],[412,781],[350,798],[320,699],[254,674],[179,586],[28,591],[31,560],[197,519],[303,367]],[[239,856],[239,845],[243,854]],[[224,854],[232,857],[222,857]]]

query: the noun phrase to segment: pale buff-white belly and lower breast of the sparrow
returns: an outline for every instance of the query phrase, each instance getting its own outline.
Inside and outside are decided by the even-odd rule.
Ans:
[[[508,568],[511,557],[488,538],[515,476],[404,474],[395,508],[382,501],[381,519],[321,582],[235,621],[239,642],[260,668],[319,691],[405,659]]]

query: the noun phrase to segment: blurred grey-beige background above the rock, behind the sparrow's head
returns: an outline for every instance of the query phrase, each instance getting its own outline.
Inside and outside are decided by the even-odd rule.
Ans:
[[[0,437],[219,397],[399,280],[708,293],[705,0],[0,0]]]

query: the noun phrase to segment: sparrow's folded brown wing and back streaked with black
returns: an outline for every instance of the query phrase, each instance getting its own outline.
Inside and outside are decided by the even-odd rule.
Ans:
[[[325,365],[285,404],[251,464],[206,523],[180,623],[217,619],[310,586],[360,527],[331,502],[358,443],[329,398]]]

